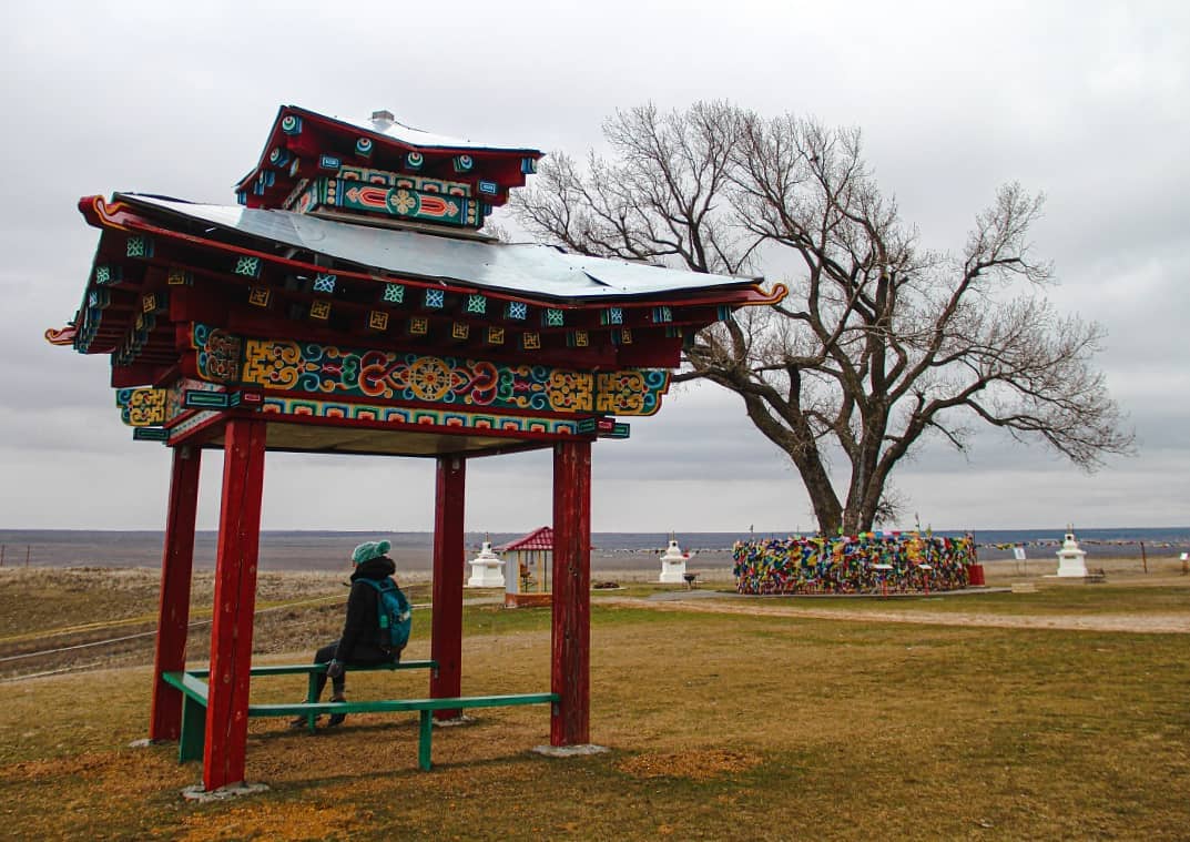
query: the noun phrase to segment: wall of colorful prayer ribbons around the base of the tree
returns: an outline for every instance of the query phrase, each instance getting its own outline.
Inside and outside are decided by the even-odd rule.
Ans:
[[[738,541],[739,593],[919,593],[967,586],[975,539],[865,532],[856,537]]]

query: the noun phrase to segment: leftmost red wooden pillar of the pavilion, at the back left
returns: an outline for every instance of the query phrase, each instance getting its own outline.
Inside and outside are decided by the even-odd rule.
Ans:
[[[194,519],[199,510],[198,448],[174,448],[169,481],[165,548],[161,559],[157,606],[157,651],[154,656],[150,740],[177,740],[182,725],[182,693],[161,680],[162,673],[186,667],[186,634],[190,623],[190,573],[194,568]]]

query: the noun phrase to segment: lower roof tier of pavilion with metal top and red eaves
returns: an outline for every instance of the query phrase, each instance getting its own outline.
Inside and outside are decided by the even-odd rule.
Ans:
[[[74,324],[117,385],[176,363],[180,323],[301,341],[444,347],[587,367],[675,367],[731,308],[778,300],[753,279],[136,194],[80,202],[102,231]],[[133,370],[121,372],[120,369]]]

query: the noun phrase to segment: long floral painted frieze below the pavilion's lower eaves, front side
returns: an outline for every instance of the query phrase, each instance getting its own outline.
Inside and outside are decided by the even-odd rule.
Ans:
[[[192,344],[198,374],[203,380],[326,398],[651,416],[660,408],[669,388],[665,369],[575,372],[289,339],[240,338],[201,324],[194,326]]]

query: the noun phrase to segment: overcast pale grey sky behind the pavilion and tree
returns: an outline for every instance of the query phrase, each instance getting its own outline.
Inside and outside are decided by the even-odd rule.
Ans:
[[[864,130],[932,247],[957,250],[998,185],[1035,227],[1139,455],[1094,475],[1040,445],[927,448],[894,478],[939,529],[1190,523],[1190,6],[735,0],[599,4],[4,4],[0,528],[159,529],[169,454],[134,443],[108,361],[44,342],[73,317],[98,231],[82,195],[234,204],[281,104],[582,156],[618,107],[729,99]],[[827,8],[827,6],[829,6]],[[794,279],[781,279],[796,283]],[[810,529],[796,473],[712,386],[594,448],[596,531]],[[221,461],[203,462],[200,526]],[[551,518],[549,455],[469,467],[466,526]],[[428,530],[433,463],[270,455],[265,529]]]

